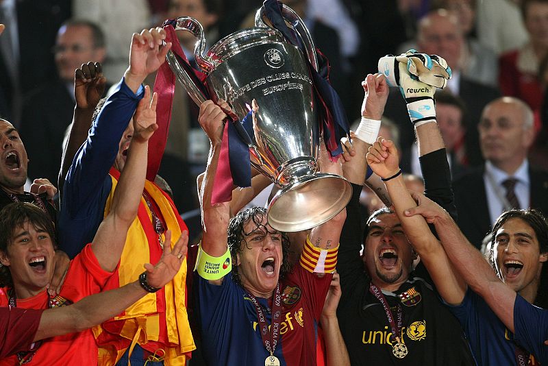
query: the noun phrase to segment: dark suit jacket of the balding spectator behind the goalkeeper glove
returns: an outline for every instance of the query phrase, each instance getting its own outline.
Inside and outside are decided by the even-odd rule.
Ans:
[[[501,94],[499,90],[473,82],[464,75],[460,75],[459,92],[459,97],[466,104],[466,115],[462,119],[462,122],[466,126],[466,155],[471,165],[478,166],[482,164],[483,160],[479,149],[477,124],[486,104],[493,99],[497,99]],[[399,143],[403,153],[407,154],[415,140],[415,135],[407,113],[406,102],[401,97],[399,88],[390,88],[390,95],[388,95],[386,108],[384,108],[384,115],[392,119],[399,126]],[[405,171],[410,171],[409,167],[405,165],[405,161],[403,163],[404,165],[401,168]]]

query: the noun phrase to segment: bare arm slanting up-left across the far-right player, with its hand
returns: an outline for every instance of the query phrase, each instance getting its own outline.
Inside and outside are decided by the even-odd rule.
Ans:
[[[434,223],[440,241],[454,268],[470,288],[484,298],[510,332],[514,332],[514,302],[516,292],[503,284],[484,256],[466,239],[449,214],[419,193],[413,193],[418,207],[409,208],[405,215],[421,215]]]

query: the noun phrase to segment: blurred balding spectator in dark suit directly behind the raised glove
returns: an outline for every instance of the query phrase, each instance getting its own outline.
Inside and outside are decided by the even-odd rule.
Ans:
[[[464,35],[455,16],[447,10],[435,10],[429,12],[419,24],[417,34],[418,51],[427,54],[439,55],[445,60],[453,71],[453,77],[447,82],[447,87],[454,94],[458,95],[466,106],[464,121],[469,126],[466,132],[466,151],[469,153],[469,164],[482,164],[479,152],[479,142],[475,126],[479,122],[484,106],[493,99],[500,96],[499,90],[479,84],[462,73],[460,58]],[[478,71],[479,72],[479,71]],[[407,110],[399,90],[392,90],[386,103],[385,113],[394,121],[407,121]],[[403,123],[403,122],[401,122]],[[414,133],[408,123],[401,125],[401,147],[406,154],[414,142]],[[403,166],[403,169],[408,167]]]

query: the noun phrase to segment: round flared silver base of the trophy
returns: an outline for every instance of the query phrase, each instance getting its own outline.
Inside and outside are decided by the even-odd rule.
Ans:
[[[271,200],[269,225],[281,232],[297,232],[325,223],[345,208],[352,186],[335,174],[316,173],[284,186]]]

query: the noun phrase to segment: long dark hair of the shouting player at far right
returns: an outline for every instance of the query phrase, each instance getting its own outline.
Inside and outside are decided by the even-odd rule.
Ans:
[[[490,265],[495,269],[495,241],[497,240],[497,231],[501,228],[506,221],[510,219],[521,219],[529,225],[536,234],[538,240],[538,249],[540,253],[548,252],[548,221],[543,214],[532,208],[527,210],[508,210],[502,212],[495,224],[493,230],[491,230],[491,248],[489,253]],[[540,272],[540,284],[536,295],[535,305],[541,308],[548,308],[548,266],[543,265],[543,269]]]

